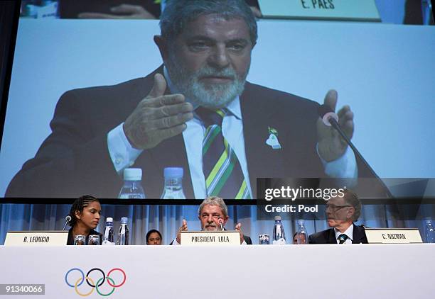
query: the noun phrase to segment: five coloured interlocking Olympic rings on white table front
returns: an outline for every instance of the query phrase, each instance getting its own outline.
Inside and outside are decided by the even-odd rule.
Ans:
[[[69,276],[73,275],[73,274],[70,274],[73,271],[80,272],[81,277],[79,277],[77,279],[77,281],[68,281]],[[97,271],[97,272],[101,273],[102,277],[97,280],[97,283],[95,283],[95,281],[90,277],[90,273],[92,273],[93,271]],[[114,280],[111,277],[109,277],[110,274],[114,273],[115,271],[121,272],[122,276],[124,276],[124,278],[122,279],[121,283],[116,284],[114,282]],[[75,293],[77,293],[77,295],[80,295],[82,297],[87,297],[87,296],[91,295],[94,292],[94,290],[96,290],[98,294],[100,294],[100,295],[102,295],[104,297],[112,295],[112,293],[114,292],[115,288],[119,288],[120,286],[124,285],[126,279],[127,279],[127,276],[125,275],[124,270],[122,270],[120,268],[114,268],[114,269],[110,270],[107,273],[107,275],[100,268],[92,268],[92,269],[90,269],[90,271],[87,271],[86,276],[85,276],[85,273],[82,271],[82,269],[78,269],[78,268],[70,269],[65,274],[65,283],[68,286],[70,286],[71,288],[74,288]],[[80,291],[78,290],[78,287],[81,286],[82,283],[84,283],[85,281],[86,281],[87,285],[90,286],[90,291],[87,292],[87,293],[80,293]],[[112,287],[112,290],[110,290],[109,293],[102,293],[102,290],[100,289],[102,284],[105,281],[107,281],[107,284]]]

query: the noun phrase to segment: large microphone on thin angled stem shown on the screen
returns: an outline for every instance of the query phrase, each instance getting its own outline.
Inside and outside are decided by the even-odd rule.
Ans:
[[[340,124],[338,123],[338,115],[335,114],[335,112],[331,109],[331,107],[328,105],[325,105],[325,104],[321,105],[320,107],[318,107],[318,114],[320,115],[320,117],[323,120],[323,123],[325,125],[332,126],[335,130],[338,131],[340,136],[343,137],[345,142],[353,150],[353,152],[355,153],[355,156],[363,162],[365,167],[367,167],[367,169],[370,171],[370,174],[372,174],[372,176],[374,176],[377,179],[377,181],[380,182],[385,193],[387,193],[387,196],[389,198],[394,198],[392,196],[392,193],[390,192],[390,189],[387,188],[387,186],[385,185],[384,181],[382,181],[382,179],[380,179],[380,177],[376,174],[376,172],[372,169],[372,167],[370,167],[370,164],[368,164],[368,162],[365,161],[363,155],[357,150],[355,145],[353,145],[353,143],[350,141],[348,136],[346,136],[345,132],[341,128]]]

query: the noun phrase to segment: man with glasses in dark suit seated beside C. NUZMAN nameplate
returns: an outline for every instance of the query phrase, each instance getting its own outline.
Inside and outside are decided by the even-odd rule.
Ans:
[[[331,198],[326,204],[326,218],[331,227],[308,237],[309,244],[367,243],[363,226],[354,224],[361,214],[361,202],[356,193],[345,189],[344,196]]]

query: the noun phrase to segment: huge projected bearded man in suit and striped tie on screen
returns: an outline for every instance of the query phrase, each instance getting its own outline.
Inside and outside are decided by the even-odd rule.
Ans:
[[[257,23],[242,0],[166,1],[154,41],[163,66],[145,78],[67,91],[53,132],[7,197],[117,197],[143,169],[159,198],[164,167],[183,167],[186,198],[256,198],[258,177],[365,176],[318,103],[246,81]],[[335,110],[336,91],[326,105]],[[353,135],[353,112],[338,111]]]

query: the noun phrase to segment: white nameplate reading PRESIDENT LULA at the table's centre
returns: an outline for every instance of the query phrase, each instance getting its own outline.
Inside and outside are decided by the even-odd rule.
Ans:
[[[240,233],[237,230],[181,232],[181,245],[240,245]]]

